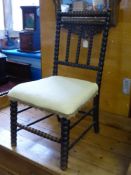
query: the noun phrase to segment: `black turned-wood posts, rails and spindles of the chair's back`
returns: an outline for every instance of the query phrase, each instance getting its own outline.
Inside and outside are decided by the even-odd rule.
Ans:
[[[104,15],[106,18],[104,18]],[[79,18],[80,17],[80,18]],[[82,19],[82,17],[84,17]],[[88,17],[90,20],[88,21]],[[95,17],[95,18],[93,18]],[[97,19],[98,17],[98,19]],[[87,18],[87,19],[85,19]],[[109,29],[109,21],[110,21],[110,12],[68,12],[68,13],[60,13],[58,12],[57,16],[57,26],[56,26],[56,40],[55,40],[55,53],[54,53],[54,69],[53,69],[53,74],[57,75],[58,74],[58,65],[62,64],[65,66],[71,66],[71,67],[79,67],[79,68],[84,68],[84,69],[89,69],[89,70],[97,70],[97,78],[96,82],[98,86],[100,87],[101,84],[101,78],[102,78],[102,71],[103,71],[103,65],[104,65],[104,57],[105,57],[105,52],[106,52],[106,44],[107,44],[107,37],[108,37],[108,29]],[[104,26],[106,23],[106,27]],[[72,25],[72,29],[69,28],[68,32],[68,37],[67,37],[67,48],[66,48],[66,56],[65,56],[65,61],[61,61],[58,59],[59,56],[59,42],[60,42],[60,30],[61,30],[61,25]],[[69,55],[69,47],[71,47],[70,44],[70,39],[71,34],[73,33],[74,26],[79,26],[80,31],[78,34],[78,44],[77,44],[77,50],[76,50],[76,57],[75,57],[75,62],[71,62],[68,60],[68,55]],[[81,40],[82,40],[82,34],[85,32],[85,35],[90,38],[90,36],[94,36],[96,32],[100,29],[103,30],[103,37],[102,37],[102,42],[100,43],[101,48],[100,48],[100,56],[99,57],[99,63],[98,65],[87,65],[87,64],[80,64],[79,63],[79,55],[80,55],[80,48],[81,48]],[[71,31],[70,31],[71,30]],[[92,48],[92,42],[89,43],[89,55],[87,59],[90,59],[91,57],[91,48]]]

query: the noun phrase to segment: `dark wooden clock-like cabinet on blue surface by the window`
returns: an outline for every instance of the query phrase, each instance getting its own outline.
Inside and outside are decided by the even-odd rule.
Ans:
[[[23,16],[23,30],[20,34],[20,50],[34,52],[40,50],[40,14],[38,6],[21,6]],[[33,16],[32,24],[28,22]]]

